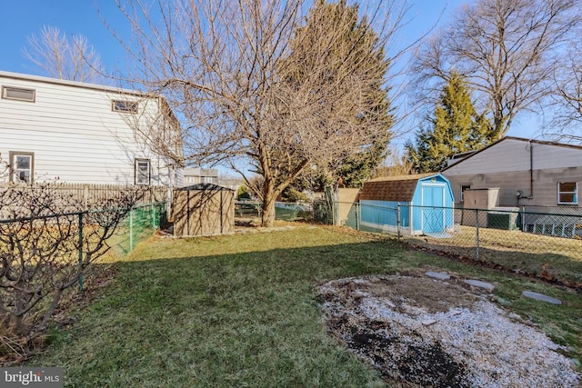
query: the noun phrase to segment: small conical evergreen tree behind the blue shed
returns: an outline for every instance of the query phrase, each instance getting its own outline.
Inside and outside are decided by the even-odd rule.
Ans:
[[[416,142],[406,143],[408,159],[419,173],[437,172],[447,167],[453,154],[478,150],[495,139],[485,114],[477,114],[463,77],[452,74],[443,87],[430,128],[416,134]]]

